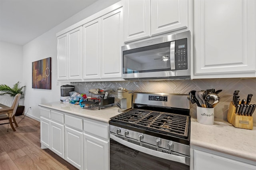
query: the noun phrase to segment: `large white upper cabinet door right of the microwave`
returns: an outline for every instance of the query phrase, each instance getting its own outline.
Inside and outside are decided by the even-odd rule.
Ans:
[[[255,76],[255,6],[253,0],[194,1],[195,75]]]

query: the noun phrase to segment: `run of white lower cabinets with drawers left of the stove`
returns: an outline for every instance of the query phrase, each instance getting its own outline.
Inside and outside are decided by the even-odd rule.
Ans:
[[[42,107],[41,148],[49,148],[80,170],[108,170],[108,123]]]

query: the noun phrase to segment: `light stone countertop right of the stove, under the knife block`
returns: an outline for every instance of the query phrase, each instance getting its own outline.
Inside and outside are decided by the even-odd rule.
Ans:
[[[191,119],[190,144],[256,161],[256,126],[253,130],[236,128],[227,121],[214,119],[203,125]]]

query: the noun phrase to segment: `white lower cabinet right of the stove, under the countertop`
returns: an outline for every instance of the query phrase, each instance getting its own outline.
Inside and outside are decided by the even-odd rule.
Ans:
[[[256,170],[256,162],[199,148],[192,149],[190,170]]]

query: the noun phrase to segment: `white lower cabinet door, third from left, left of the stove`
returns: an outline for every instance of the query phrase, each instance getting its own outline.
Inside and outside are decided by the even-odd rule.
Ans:
[[[83,133],[65,127],[65,160],[78,169],[83,169]]]

